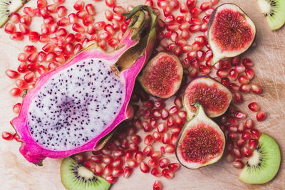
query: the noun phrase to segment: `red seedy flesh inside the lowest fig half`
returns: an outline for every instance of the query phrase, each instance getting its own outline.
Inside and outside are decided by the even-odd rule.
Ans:
[[[178,146],[186,162],[204,164],[222,153],[224,141],[213,127],[201,122],[187,131]]]

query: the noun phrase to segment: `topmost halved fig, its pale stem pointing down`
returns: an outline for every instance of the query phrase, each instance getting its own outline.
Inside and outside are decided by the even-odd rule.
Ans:
[[[238,56],[252,45],[256,34],[254,22],[235,4],[222,4],[211,14],[208,41],[212,65],[223,58]]]

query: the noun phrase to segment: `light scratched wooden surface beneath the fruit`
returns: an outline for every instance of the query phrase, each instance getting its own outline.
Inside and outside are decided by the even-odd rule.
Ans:
[[[180,0],[180,2],[186,0]],[[68,10],[73,10],[74,1],[67,1],[65,5]],[[94,1],[90,1],[94,2]],[[118,5],[143,4],[143,0],[117,0]],[[257,123],[257,128],[261,132],[270,134],[276,139],[284,156],[285,150],[285,27],[279,31],[269,30],[264,17],[259,10],[256,0],[222,0],[232,2],[241,8],[252,18],[257,26],[257,47],[251,48],[245,55],[251,58],[255,65],[256,76],[253,82],[259,83],[263,88],[261,95],[245,95],[245,102],[240,106],[247,111],[249,116],[254,117],[249,112],[247,105],[256,101],[262,110],[266,110],[267,118],[264,122]],[[200,4],[201,1],[198,1]],[[36,0],[28,2],[27,6],[36,7]],[[95,2],[96,20],[103,18],[105,10],[103,1]],[[20,10],[22,12],[22,9]],[[285,10],[284,10],[285,11]],[[177,15],[177,14],[175,14]],[[40,19],[33,18],[31,28],[39,31]],[[11,41],[9,35],[4,33],[4,28],[0,30],[0,131],[14,132],[9,121],[15,117],[11,107],[21,101],[20,98],[11,97],[9,90],[14,86],[14,80],[9,79],[4,71],[11,68],[16,69],[19,64],[17,56],[28,44],[24,41]],[[38,46],[39,48],[40,46]],[[0,139],[0,189],[64,189],[60,179],[61,159],[45,159],[43,167],[36,167],[22,157],[19,153],[20,144],[16,141],[6,142]],[[173,161],[175,156],[170,157]],[[285,189],[285,162],[282,159],[281,168],[276,178],[263,185],[249,185],[239,181],[239,171],[231,164],[222,159],[217,164],[204,167],[202,169],[185,169],[175,173],[172,180],[160,178],[164,189]],[[135,169],[129,179],[120,177],[112,189],[152,189],[155,177],[150,174],[142,174],[139,169]]]

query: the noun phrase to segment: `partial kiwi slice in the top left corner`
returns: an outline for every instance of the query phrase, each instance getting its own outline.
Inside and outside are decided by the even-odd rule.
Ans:
[[[4,26],[11,14],[18,11],[24,4],[26,4],[26,2],[26,0],[1,0],[0,27]]]

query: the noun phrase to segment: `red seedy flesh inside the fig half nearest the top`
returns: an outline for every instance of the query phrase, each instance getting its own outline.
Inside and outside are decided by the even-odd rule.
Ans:
[[[238,51],[252,43],[254,31],[239,11],[224,9],[215,16],[212,36],[223,51]],[[231,36],[231,38],[225,38]]]

